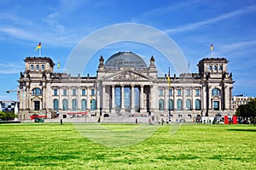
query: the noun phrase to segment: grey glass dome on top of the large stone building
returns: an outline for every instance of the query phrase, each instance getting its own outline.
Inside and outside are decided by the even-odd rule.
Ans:
[[[135,70],[145,70],[147,65],[137,54],[131,52],[119,52],[113,54],[106,62],[105,69],[119,70],[119,68],[134,68]]]

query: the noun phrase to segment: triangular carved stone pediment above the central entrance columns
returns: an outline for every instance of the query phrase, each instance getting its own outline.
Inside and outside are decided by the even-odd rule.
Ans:
[[[102,78],[102,81],[111,82],[148,82],[152,81],[151,77],[147,77],[137,71],[125,70],[118,71],[109,75],[108,77]]]

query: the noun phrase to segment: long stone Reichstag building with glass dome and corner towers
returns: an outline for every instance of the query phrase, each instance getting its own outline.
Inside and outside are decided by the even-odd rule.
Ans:
[[[154,64],[137,54],[119,52],[105,62],[99,59],[96,77],[72,77],[54,72],[48,57],[27,57],[20,72],[20,119],[33,114],[89,113],[103,116],[166,116],[193,119],[195,116],[233,115],[232,74],[228,60],[205,58],[197,73],[170,78],[158,77]],[[104,118],[104,117],[102,117]]]

